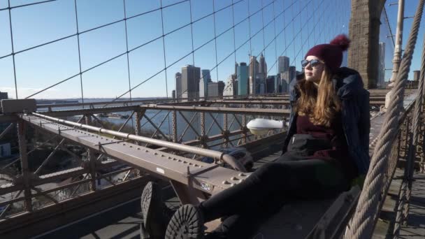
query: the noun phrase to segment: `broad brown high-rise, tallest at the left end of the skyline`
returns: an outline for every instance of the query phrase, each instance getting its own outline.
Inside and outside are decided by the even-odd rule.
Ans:
[[[199,96],[199,80],[201,68],[186,65],[182,67],[182,98],[193,100]]]

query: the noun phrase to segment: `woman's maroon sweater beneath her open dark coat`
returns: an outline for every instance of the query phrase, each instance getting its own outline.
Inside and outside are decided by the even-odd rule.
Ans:
[[[329,140],[332,148],[329,150],[316,151],[309,158],[324,160],[336,159],[340,162],[343,170],[350,178],[356,176],[356,165],[348,152],[347,140],[345,139],[340,115],[336,115],[330,127],[312,124],[308,116],[298,115],[296,118],[296,133],[310,134],[315,138]]]

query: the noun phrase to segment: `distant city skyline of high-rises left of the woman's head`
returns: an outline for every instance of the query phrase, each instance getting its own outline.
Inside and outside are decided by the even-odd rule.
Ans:
[[[175,73],[175,91],[173,92],[173,99],[188,99],[194,100],[199,98],[207,98],[208,96],[236,96],[246,94],[266,94],[266,93],[285,93],[287,92],[287,85],[294,80],[297,75],[296,66],[289,66],[289,57],[278,57],[278,74],[267,74],[266,57],[260,55],[259,61],[256,57],[250,57],[250,65],[245,62],[235,62],[235,72],[229,75],[224,83],[224,80],[212,82],[210,70],[202,69],[201,67],[187,64],[182,67],[182,73],[187,71],[187,68],[196,68],[196,73],[199,75],[198,91],[195,88],[188,89],[187,85],[195,85],[194,79],[198,78],[192,75],[192,78],[182,78],[182,73]],[[240,67],[243,66],[243,67]],[[249,70],[249,72],[248,72]],[[254,76],[254,81],[252,80]],[[268,82],[273,79],[273,83]],[[184,85],[184,87],[182,87]],[[271,87],[273,85],[273,87]],[[240,89],[240,90],[239,90]],[[246,91],[245,91],[246,89]]]

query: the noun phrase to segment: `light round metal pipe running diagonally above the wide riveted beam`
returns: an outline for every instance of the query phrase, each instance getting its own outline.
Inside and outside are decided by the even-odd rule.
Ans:
[[[77,126],[81,129],[89,129],[91,131],[96,131],[98,133],[107,133],[107,134],[110,134],[112,136],[117,136],[117,137],[120,137],[120,138],[126,138],[126,139],[129,139],[129,140],[140,141],[142,143],[149,143],[151,145],[167,147],[167,148],[172,149],[172,150],[180,150],[180,151],[188,152],[188,153],[191,153],[191,154],[202,155],[204,157],[212,157],[212,158],[216,158],[216,159],[222,159],[227,164],[229,164],[230,166],[235,168],[237,171],[246,172],[245,168],[242,166],[242,164],[240,164],[239,161],[236,161],[235,158],[231,157],[228,154],[224,154],[223,152],[217,152],[217,151],[214,151],[214,150],[207,150],[207,149],[203,149],[203,148],[200,148],[200,147],[193,147],[193,146],[189,146],[189,145],[181,145],[181,144],[178,144],[178,143],[172,143],[172,142],[168,142],[168,141],[164,141],[164,140],[157,140],[157,139],[154,139],[154,138],[136,136],[136,135],[130,134],[130,133],[121,133],[121,132],[117,132],[117,131],[113,131],[113,130],[109,130],[109,129],[102,129],[102,128],[95,127],[95,126],[89,126],[89,125],[86,125],[86,124],[78,124],[78,123],[71,122],[71,121],[68,121],[68,120],[57,119],[55,117],[41,115],[41,114],[38,114],[38,113],[32,113],[32,115],[35,115],[36,117],[41,117],[43,119],[49,119],[51,121],[59,122],[59,123],[62,123],[62,124]]]

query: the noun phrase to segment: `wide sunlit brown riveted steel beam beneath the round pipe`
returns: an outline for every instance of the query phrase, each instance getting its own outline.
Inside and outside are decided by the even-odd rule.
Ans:
[[[234,184],[238,184],[249,175],[249,173],[241,173],[229,168],[217,168],[214,164],[206,164],[201,161],[179,157],[175,154],[168,154],[127,142],[117,142],[120,140],[99,136],[80,129],[72,129],[69,126],[56,124],[55,122],[34,115],[23,115],[22,119],[41,129],[52,133],[60,133],[62,137],[68,140],[85,145],[87,148],[98,150],[110,157],[120,159],[120,161],[141,168],[143,171],[147,171],[159,178],[174,180],[182,184],[188,184],[191,181],[195,189],[204,191],[207,194],[213,194]],[[123,135],[126,134],[123,133]],[[153,140],[150,138],[147,139]],[[99,147],[98,145],[102,146]],[[187,146],[180,145],[180,147],[181,150],[185,150]],[[208,154],[211,150],[197,147],[193,150],[191,153],[212,156],[212,152]],[[223,155],[221,152],[215,152],[215,154]]]

